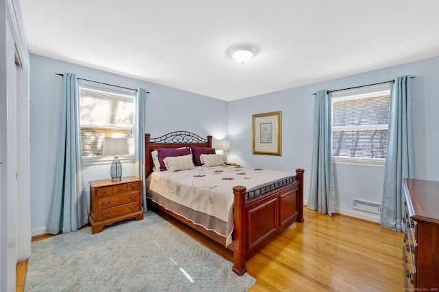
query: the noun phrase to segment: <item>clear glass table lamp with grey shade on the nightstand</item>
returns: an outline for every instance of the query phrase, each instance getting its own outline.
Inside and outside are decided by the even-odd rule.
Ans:
[[[127,155],[128,142],[126,138],[107,138],[104,139],[104,145],[102,147],[102,155],[110,156],[115,155],[110,168],[111,181],[121,181],[122,177],[122,165],[119,161],[118,155]]]

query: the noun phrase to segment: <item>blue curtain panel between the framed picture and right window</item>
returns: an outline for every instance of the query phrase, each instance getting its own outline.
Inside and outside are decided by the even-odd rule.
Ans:
[[[316,93],[314,105],[313,159],[311,190],[307,208],[319,213],[335,213],[335,188],[332,165],[331,95],[327,90]]]

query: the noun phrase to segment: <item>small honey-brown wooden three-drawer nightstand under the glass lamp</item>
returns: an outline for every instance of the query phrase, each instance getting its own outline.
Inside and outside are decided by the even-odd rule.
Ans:
[[[102,231],[106,225],[136,218],[143,219],[142,180],[137,176],[123,177],[121,181],[91,181],[90,215],[93,234]]]

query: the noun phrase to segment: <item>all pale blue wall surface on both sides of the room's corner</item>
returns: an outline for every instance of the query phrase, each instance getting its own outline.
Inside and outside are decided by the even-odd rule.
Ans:
[[[439,181],[439,57],[226,102],[31,54],[32,235],[45,233],[54,185],[61,90],[61,77],[56,73],[62,72],[74,72],[83,79],[128,88],[142,87],[151,92],[147,96],[146,121],[147,131],[153,137],[180,130],[213,135],[217,140],[228,135],[229,161],[288,172],[304,168],[305,201],[309,195],[313,147],[312,94],[322,89],[379,83],[401,75],[416,76],[412,79],[416,178]],[[280,157],[252,154],[252,115],[269,111],[282,111]],[[107,168],[108,165],[88,167],[84,171],[84,182],[107,178]],[[131,168],[124,165],[124,175],[130,175],[130,171]],[[381,203],[383,174],[383,166],[336,164],[337,211],[379,222],[379,215],[357,211],[351,205],[353,198]]]

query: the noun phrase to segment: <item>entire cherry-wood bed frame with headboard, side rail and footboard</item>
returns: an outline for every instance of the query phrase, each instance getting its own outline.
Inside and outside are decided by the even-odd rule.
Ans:
[[[172,137],[178,133],[178,139]],[[211,147],[212,137],[206,140],[198,135],[188,132],[174,132],[150,141],[150,134],[145,134],[145,168],[146,173],[152,172],[152,158],[150,152],[157,148],[178,148],[182,146]],[[183,133],[183,134],[182,134]],[[165,137],[167,142],[163,140]],[[235,227],[233,243],[228,245],[233,250],[233,271],[241,276],[246,272],[246,261],[254,256],[272,239],[280,235],[294,222],[303,222],[303,173],[302,169],[296,170],[296,176],[285,181],[276,182],[257,191],[247,191],[246,187],[233,187],[235,196]],[[147,200],[148,205],[175,217],[181,222],[191,226],[207,237],[225,246],[226,239],[217,233],[206,230],[202,226],[193,224],[180,215],[161,207],[159,204]]]

